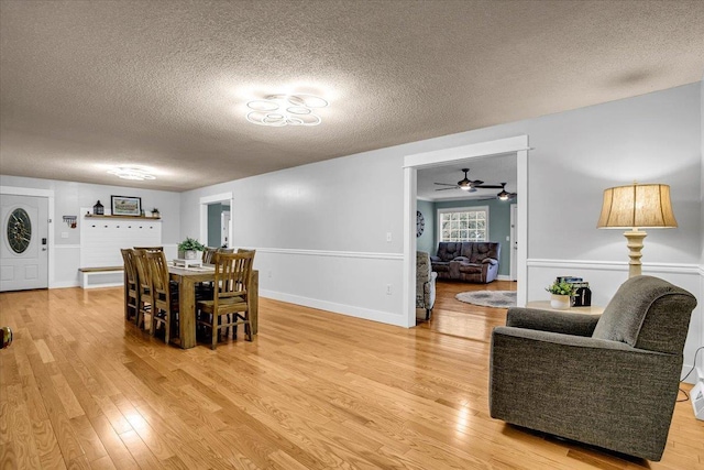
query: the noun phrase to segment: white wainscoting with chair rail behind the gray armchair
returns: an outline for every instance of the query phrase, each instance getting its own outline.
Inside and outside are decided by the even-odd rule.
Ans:
[[[528,300],[546,299],[544,287],[557,276],[584,277],[592,289],[592,304],[608,304],[616,289],[628,278],[628,262],[584,261],[584,260],[543,260],[528,259]],[[697,298],[697,306],[692,313],[690,331],[684,346],[683,375],[694,364],[694,351],[704,346],[704,281],[702,267],[697,264],[644,263],[645,275],[657,276],[691,292]],[[697,371],[700,376],[704,368],[700,367],[704,356],[700,352]],[[694,374],[688,382],[693,381]]]

